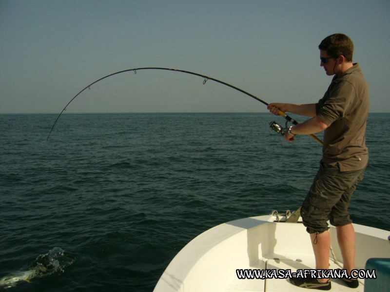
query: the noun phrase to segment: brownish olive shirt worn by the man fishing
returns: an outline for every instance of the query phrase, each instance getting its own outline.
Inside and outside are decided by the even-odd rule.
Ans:
[[[315,105],[324,132],[322,162],[339,164],[340,171],[362,169],[368,162],[366,124],[369,89],[357,63],[332,79],[328,91]]]

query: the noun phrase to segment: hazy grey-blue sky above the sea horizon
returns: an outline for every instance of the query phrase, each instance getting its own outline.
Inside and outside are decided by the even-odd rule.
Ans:
[[[267,103],[315,103],[331,76],[318,44],[351,37],[370,112],[390,112],[389,0],[0,0],[0,113],[59,113],[122,70],[213,77]],[[266,112],[212,80],[121,73],[84,91],[78,112]]]

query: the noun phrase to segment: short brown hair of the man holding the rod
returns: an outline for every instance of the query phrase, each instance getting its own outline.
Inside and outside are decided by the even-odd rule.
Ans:
[[[325,37],[318,48],[326,51],[328,55],[333,58],[338,58],[343,55],[348,62],[352,62],[353,43],[351,38],[346,35],[334,34],[329,37]]]

